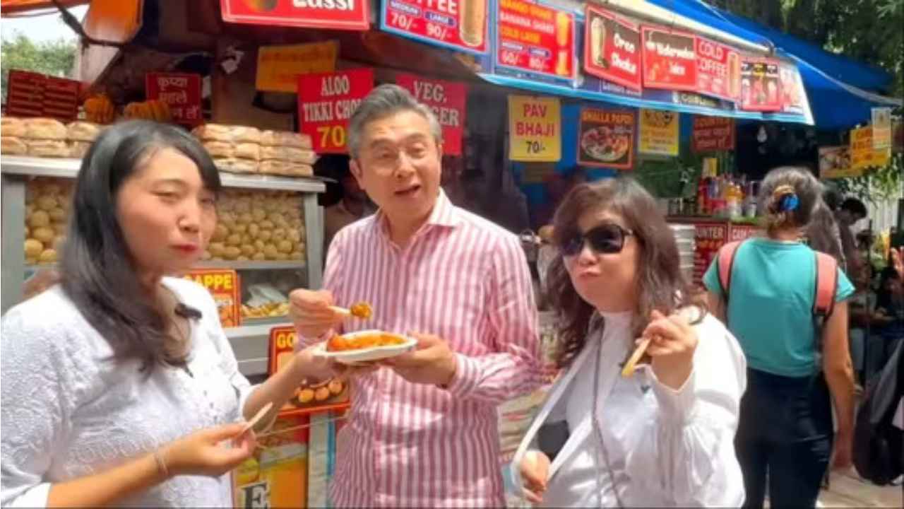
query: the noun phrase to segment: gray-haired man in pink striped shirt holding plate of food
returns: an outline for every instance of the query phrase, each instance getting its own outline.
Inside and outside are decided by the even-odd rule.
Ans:
[[[418,346],[353,379],[333,503],[503,506],[496,406],[541,383],[521,246],[442,192],[438,120],[408,91],[382,85],[364,99],[349,152],[380,210],[334,237],[324,290],[292,293],[299,343],[381,329]],[[371,320],[329,308],[358,301],[372,303]]]

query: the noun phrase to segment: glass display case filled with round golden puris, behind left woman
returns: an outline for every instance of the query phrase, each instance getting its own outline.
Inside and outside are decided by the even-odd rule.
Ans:
[[[2,311],[20,303],[24,283],[57,262],[79,159],[4,156]],[[267,372],[268,333],[288,324],[288,293],[317,288],[323,275],[323,212],[312,178],[221,173],[218,223],[198,269],[235,270],[239,327],[227,328],[240,370]]]

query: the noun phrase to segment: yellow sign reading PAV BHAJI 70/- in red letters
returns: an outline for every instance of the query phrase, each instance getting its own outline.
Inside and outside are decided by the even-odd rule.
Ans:
[[[551,97],[509,96],[509,158],[558,162],[562,157],[561,107]]]

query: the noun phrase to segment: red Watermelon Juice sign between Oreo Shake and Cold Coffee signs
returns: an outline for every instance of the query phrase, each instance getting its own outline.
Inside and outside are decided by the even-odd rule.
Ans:
[[[694,36],[644,26],[644,86],[673,91],[697,90]]]

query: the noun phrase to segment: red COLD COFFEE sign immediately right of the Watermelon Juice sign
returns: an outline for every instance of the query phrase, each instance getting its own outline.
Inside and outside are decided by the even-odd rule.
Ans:
[[[697,91],[729,101],[740,95],[740,53],[697,37]]]

